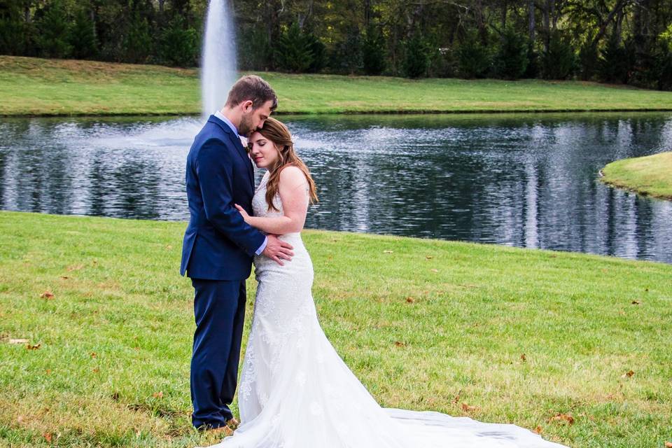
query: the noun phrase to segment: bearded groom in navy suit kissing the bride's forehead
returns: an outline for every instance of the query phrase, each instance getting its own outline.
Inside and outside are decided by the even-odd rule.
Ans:
[[[245,223],[234,204],[252,214],[254,172],[240,141],[262,127],[277,107],[275,92],[258,76],[231,87],[224,108],[210,116],[187,156],[190,221],[184,234],[180,274],[195,289],[191,359],[192,422],[199,429],[235,425],[229,405],[238,377],[245,317],[245,279],[253,255],[279,264],[292,246]]]

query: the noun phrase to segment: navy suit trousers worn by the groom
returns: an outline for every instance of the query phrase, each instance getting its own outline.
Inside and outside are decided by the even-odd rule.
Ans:
[[[245,281],[192,279],[195,289],[191,358],[192,423],[219,428],[233,417],[240,344],[245,320]]]

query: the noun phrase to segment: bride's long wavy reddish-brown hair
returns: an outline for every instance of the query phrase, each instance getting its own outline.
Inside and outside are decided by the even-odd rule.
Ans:
[[[286,167],[297,167],[300,169],[306,181],[308,181],[308,193],[311,204],[317,202],[317,193],[315,188],[315,181],[313,180],[308,167],[301,160],[294,150],[294,142],[292,141],[292,134],[290,134],[284,123],[275,118],[267,118],[261,129],[256,130],[262,136],[269,139],[276,151],[278,151],[278,159],[272,167],[269,167],[269,179],[266,183],[266,203],[269,210],[278,211],[273,204],[273,198],[278,193],[280,183],[280,172]]]

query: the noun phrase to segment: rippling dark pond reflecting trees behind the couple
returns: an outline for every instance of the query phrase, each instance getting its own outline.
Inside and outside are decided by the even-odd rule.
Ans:
[[[308,228],[672,262],[672,203],[598,181],[672,148],[672,114],[283,116]],[[0,118],[0,208],[182,221],[200,118]],[[258,179],[262,173],[258,173]]]

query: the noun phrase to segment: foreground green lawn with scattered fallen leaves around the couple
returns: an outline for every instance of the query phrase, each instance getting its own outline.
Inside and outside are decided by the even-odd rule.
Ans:
[[[215,441],[189,420],[184,228],[0,212],[0,445]],[[338,232],[305,241],[323,328],[382,405],[538,428],[574,448],[672,441],[672,265]]]

